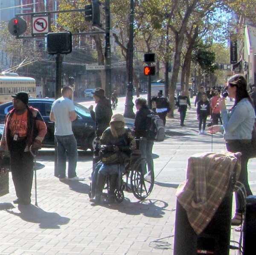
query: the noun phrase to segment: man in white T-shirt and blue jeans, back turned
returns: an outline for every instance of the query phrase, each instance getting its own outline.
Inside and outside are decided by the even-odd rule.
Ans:
[[[72,122],[76,120],[75,106],[72,101],[73,89],[63,87],[62,96],[52,104],[50,120],[55,122],[54,136],[57,142],[57,169],[59,180],[82,181],[76,176],[78,159],[77,142],[72,131]],[[68,176],[66,176],[66,158],[68,159]]]

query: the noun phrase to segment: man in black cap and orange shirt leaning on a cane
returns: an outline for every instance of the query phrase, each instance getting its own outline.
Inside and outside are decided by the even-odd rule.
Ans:
[[[28,106],[29,95],[21,91],[12,95],[13,109],[6,115],[3,136],[0,142],[0,155],[10,152],[12,180],[17,199],[15,204],[29,205],[33,183],[34,157],[29,151],[41,148],[47,127],[41,113]]]

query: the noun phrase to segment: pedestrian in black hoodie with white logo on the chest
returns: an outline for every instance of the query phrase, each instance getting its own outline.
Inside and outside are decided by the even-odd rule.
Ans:
[[[210,104],[207,100],[206,93],[203,93],[202,99],[198,102],[198,108],[197,108],[197,114],[198,114],[198,120],[199,120],[199,132],[198,134],[206,134],[205,131],[205,125],[206,125],[206,119],[210,115]],[[201,131],[203,123],[203,132]]]

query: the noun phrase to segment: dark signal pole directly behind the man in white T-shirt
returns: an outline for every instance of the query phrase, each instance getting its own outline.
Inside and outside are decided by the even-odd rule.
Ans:
[[[61,83],[62,83],[62,56],[60,53],[57,54],[55,58],[56,63],[56,85],[55,85],[55,99],[61,97]],[[54,176],[58,177],[58,160],[57,160],[57,143],[55,141],[55,150],[54,150]]]

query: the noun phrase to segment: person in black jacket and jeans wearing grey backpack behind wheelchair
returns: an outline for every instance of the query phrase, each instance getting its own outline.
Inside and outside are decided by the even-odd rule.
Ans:
[[[154,141],[149,138],[147,131],[150,126],[147,115],[151,114],[152,112],[148,109],[146,99],[142,97],[139,97],[135,100],[135,105],[138,110],[135,115],[134,122],[135,138],[140,139],[141,156],[148,159],[150,167],[153,171],[154,164],[152,158],[152,148]]]

